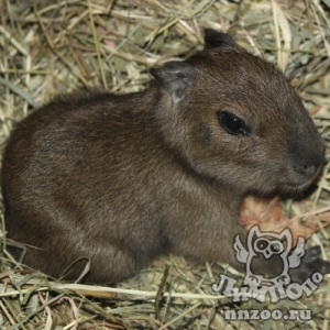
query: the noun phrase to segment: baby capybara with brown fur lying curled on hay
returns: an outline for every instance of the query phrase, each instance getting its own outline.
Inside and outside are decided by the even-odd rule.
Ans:
[[[16,125],[2,187],[28,265],[58,277],[86,256],[98,283],[169,252],[238,266],[243,197],[310,186],[324,144],[284,75],[227,34],[206,44],[146,91],[59,96]]]

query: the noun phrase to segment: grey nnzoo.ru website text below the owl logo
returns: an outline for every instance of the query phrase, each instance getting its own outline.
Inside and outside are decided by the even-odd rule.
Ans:
[[[310,309],[288,310],[283,312],[279,309],[241,309],[223,310],[226,320],[311,320],[312,312]]]

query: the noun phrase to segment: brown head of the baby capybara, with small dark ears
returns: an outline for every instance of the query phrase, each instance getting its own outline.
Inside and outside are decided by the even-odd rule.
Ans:
[[[198,172],[242,194],[299,191],[320,172],[324,143],[285,76],[206,31],[206,50],[152,74],[168,145]]]

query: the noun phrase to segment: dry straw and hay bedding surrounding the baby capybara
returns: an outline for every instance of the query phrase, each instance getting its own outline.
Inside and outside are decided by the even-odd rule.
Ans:
[[[151,67],[200,50],[204,29],[212,28],[285,70],[324,136],[329,161],[329,0],[0,0],[1,148],[13,124],[52,96],[94,87],[143,90]],[[330,206],[329,166],[309,198],[315,208]],[[324,257],[328,235],[323,230],[310,240],[322,245]],[[163,257],[107,288],[26,275],[4,244],[1,249],[1,329],[329,329],[329,280],[299,301],[234,306],[211,292],[223,272],[216,264]],[[229,321],[228,308],[311,309],[314,318]]]

